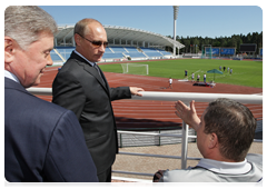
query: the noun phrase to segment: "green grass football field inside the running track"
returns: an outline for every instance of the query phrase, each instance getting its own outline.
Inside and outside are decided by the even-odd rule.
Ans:
[[[188,70],[188,79],[191,79],[191,73],[200,74],[202,81],[204,73],[207,74],[207,82],[214,80],[216,83],[229,83],[237,86],[248,86],[256,88],[265,88],[265,61],[246,61],[246,60],[217,60],[217,59],[176,59],[161,61],[145,61],[136,62],[149,66],[149,74],[152,77],[184,79],[185,70]],[[120,63],[101,64],[102,71],[122,73]],[[207,73],[208,70],[226,67],[222,74]],[[227,72],[227,68],[233,69],[233,73]]]

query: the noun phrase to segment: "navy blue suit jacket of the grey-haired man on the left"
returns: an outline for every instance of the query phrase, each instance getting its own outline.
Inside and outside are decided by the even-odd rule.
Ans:
[[[4,186],[98,186],[73,112],[4,78]]]

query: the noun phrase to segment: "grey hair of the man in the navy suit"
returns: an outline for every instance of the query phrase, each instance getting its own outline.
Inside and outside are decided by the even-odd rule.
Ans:
[[[41,32],[55,34],[57,30],[53,18],[37,6],[4,6],[4,36],[24,50]]]

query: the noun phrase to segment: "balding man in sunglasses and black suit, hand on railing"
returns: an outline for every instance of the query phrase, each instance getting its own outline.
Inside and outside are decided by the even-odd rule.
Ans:
[[[118,152],[112,100],[141,96],[141,88],[109,84],[96,62],[108,46],[100,22],[83,19],[75,27],[76,50],[58,72],[53,84],[53,102],[72,110],[82,127],[87,147],[97,166],[99,186],[111,185],[111,166]]]

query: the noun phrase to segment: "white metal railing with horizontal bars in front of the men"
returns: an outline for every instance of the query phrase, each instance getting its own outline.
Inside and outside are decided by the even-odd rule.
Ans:
[[[29,92],[37,96],[51,96],[51,88],[29,88]],[[210,102],[218,98],[228,98],[236,100],[240,103],[253,103],[253,105],[265,105],[265,96],[254,96],[254,94],[227,94],[227,93],[196,93],[196,92],[151,92],[142,91],[142,97],[132,96],[132,100],[160,100],[160,101],[177,101],[181,100],[189,106],[191,100],[196,102]],[[196,136],[188,135],[188,125],[182,122],[181,135],[178,133],[156,133],[156,132],[141,132],[141,131],[118,131],[118,138],[121,135],[135,135],[135,136],[152,136],[157,139],[171,137],[181,138],[181,156],[165,156],[165,155],[150,155],[150,153],[132,153],[132,152],[119,152],[120,155],[131,155],[131,156],[144,156],[144,157],[158,157],[158,158],[174,158],[181,159],[181,168],[187,167],[187,160],[199,160],[200,158],[187,157],[187,146],[188,139],[196,139]],[[265,142],[265,140],[254,140],[255,142]],[[139,176],[152,176],[151,173],[141,172],[128,172],[113,170],[116,173],[128,173],[128,175],[139,175]]]

